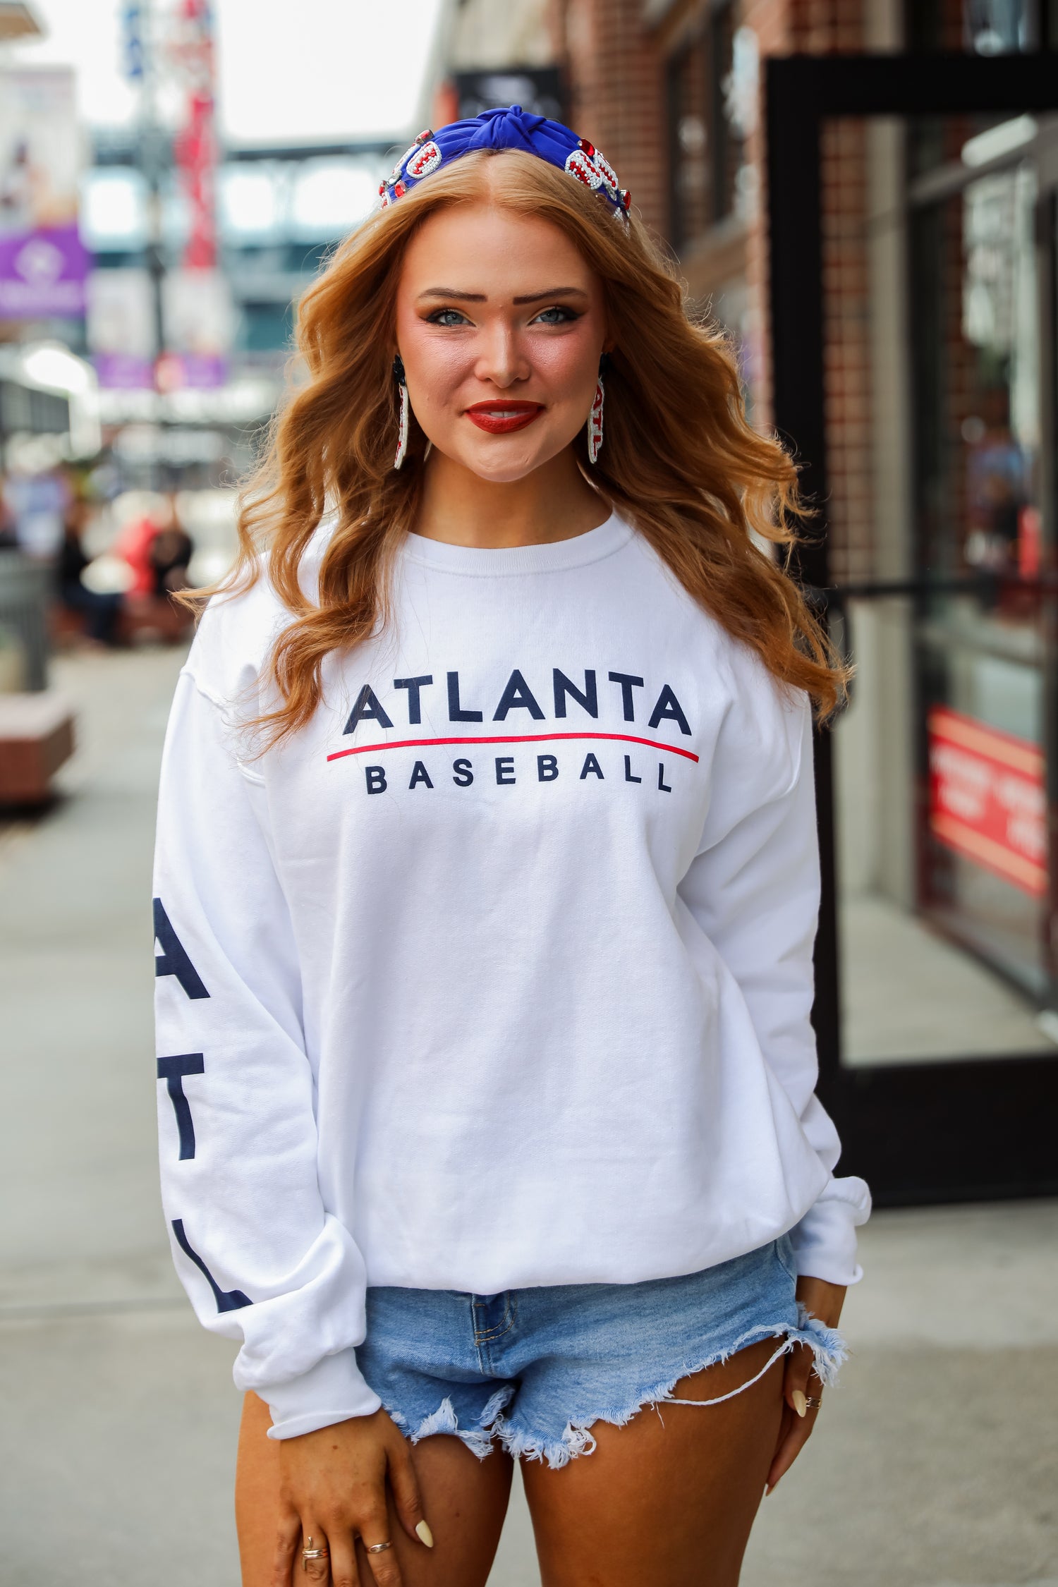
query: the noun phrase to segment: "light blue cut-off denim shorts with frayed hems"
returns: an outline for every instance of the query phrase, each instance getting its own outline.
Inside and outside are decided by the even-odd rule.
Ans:
[[[673,1400],[680,1378],[776,1339],[749,1389],[796,1344],[833,1384],[845,1347],[795,1297],[788,1236],[701,1273],[644,1284],[560,1284],[473,1295],[368,1289],[357,1362],[404,1435],[454,1433],[484,1457],[565,1466],[595,1449],[595,1422],[623,1427]],[[722,1395],[719,1398],[731,1398]]]

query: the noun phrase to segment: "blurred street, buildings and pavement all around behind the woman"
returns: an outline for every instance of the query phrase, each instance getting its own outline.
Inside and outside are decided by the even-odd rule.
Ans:
[[[822,1093],[880,1211],[744,1581],[1058,1587],[1058,3],[0,0],[0,1581],[233,1587],[152,801],[298,295],[419,130],[596,143],[817,505]],[[493,1587],[538,1582],[516,1490]]]

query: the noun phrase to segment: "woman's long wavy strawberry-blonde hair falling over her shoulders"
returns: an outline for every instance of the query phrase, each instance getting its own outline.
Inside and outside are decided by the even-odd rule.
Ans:
[[[416,522],[427,449],[412,424],[404,467],[393,470],[401,260],[435,211],[481,202],[558,227],[603,284],[614,338],[606,444],[588,465],[585,425],[574,443],[585,475],[704,611],[777,679],[804,689],[820,719],[830,716],[844,670],[787,573],[788,557],[763,546],[788,552],[795,543],[796,468],[747,422],[730,344],[688,313],[669,260],[634,216],[623,225],[531,154],[489,149],[373,214],[301,298],[300,379],[241,492],[236,563],[219,586],[195,592],[240,592],[266,571],[290,611],[266,665],[276,706],[259,719],[265,743],[312,717],[324,659],[389,619],[390,567]],[[301,559],[325,514],[333,530],[309,590]]]

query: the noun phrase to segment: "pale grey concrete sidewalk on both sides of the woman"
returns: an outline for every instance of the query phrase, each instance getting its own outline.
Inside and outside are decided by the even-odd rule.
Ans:
[[[179,663],[62,662],[70,797],[0,825],[3,1582],[238,1587],[233,1346],[173,1276],[154,1159],[149,857]],[[1058,1587],[1056,1244],[1056,1203],[876,1216],[853,1358],[744,1587]],[[490,1587],[536,1584],[516,1492]]]

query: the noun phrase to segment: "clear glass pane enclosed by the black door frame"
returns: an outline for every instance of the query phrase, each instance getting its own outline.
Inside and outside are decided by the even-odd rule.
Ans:
[[[1047,132],[1042,117],[823,132],[825,149],[861,151],[861,235],[845,217],[841,246],[860,241],[874,278],[866,362],[884,357],[890,375],[884,387],[868,368],[864,490],[858,513],[838,495],[831,522],[833,560],[863,563],[834,592],[858,670],[836,728],[845,1065],[1048,1052],[1058,1039],[1041,463],[1048,197],[1036,157]],[[825,236],[825,279],[828,252]],[[828,359],[845,367],[847,309],[825,308]],[[845,398],[826,397],[839,470]],[[895,570],[904,595],[887,594]]]

